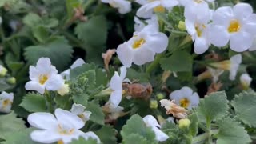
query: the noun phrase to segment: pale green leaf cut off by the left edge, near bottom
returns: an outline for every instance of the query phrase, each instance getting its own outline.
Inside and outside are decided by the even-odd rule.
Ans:
[[[26,128],[25,122],[22,121],[22,118],[16,117],[17,115],[14,112],[6,115],[0,115],[0,138],[6,139],[7,135]]]

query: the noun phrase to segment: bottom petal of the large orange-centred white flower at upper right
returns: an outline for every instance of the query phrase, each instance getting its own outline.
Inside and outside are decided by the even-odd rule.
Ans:
[[[253,41],[254,37],[246,32],[232,34],[230,36],[230,49],[236,52],[248,50]]]

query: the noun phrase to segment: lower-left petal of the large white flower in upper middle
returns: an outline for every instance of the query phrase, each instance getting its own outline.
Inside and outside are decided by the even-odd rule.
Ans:
[[[126,66],[126,67],[131,66],[132,60],[134,58],[134,54],[133,54],[133,51],[130,50],[130,47],[127,44],[127,42],[118,46],[117,54],[123,66]]]

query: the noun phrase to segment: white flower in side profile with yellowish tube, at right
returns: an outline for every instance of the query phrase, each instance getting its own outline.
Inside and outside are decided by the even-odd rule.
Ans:
[[[210,66],[214,66],[218,69],[222,70],[229,70],[230,71],[230,80],[234,80],[238,68],[242,62],[242,55],[241,54],[236,54],[233,57],[230,58],[230,60],[222,61],[222,62],[214,62],[210,63]]]

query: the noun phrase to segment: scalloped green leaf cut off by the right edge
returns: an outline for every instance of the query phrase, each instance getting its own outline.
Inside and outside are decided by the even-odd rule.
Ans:
[[[242,92],[235,96],[231,102],[237,118],[250,127],[256,127],[256,94],[255,92]]]

